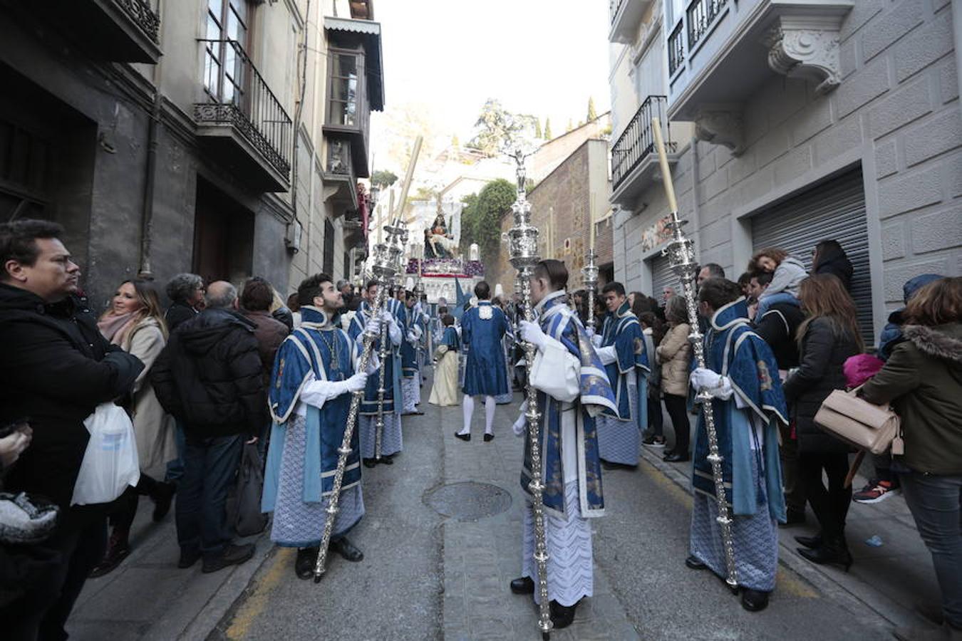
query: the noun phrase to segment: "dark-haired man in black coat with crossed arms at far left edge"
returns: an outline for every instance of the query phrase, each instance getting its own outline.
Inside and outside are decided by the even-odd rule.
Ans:
[[[0,608],[10,639],[66,638],[63,625],[107,543],[106,505],[70,505],[89,440],[84,419],[126,396],[143,369],[97,330],[61,235],[60,225],[42,220],[0,225],[0,425],[29,418],[33,428],[5,489],[61,508],[44,542],[61,562],[13,579],[22,596]],[[0,577],[0,589],[10,580]]]

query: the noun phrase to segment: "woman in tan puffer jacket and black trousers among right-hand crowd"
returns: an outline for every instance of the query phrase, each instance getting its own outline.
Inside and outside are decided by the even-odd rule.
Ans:
[[[665,308],[665,318],[669,331],[662,338],[656,350],[662,363],[662,392],[665,394],[665,409],[671,417],[674,430],[674,447],[665,453],[664,459],[676,463],[689,460],[688,422],[688,374],[692,359],[692,346],[688,333],[688,308],[681,296],[672,296]]]

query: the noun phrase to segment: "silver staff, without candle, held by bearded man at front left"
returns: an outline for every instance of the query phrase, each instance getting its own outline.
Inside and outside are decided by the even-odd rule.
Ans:
[[[388,231],[387,244],[380,243],[374,247],[374,256],[371,260],[371,271],[378,280],[380,286],[377,288],[377,297],[371,309],[371,317],[376,318],[384,305],[387,295],[386,284],[391,283],[397,264],[396,253],[399,251],[395,243],[391,242],[393,226],[385,228]],[[374,341],[377,339],[376,332],[369,332],[367,328],[364,333],[364,351],[361,354],[361,362],[358,364],[358,371],[367,371],[367,363],[373,351]],[[334,487],[331,490],[331,498],[328,501],[326,518],[324,519],[324,531],[320,536],[320,549],[317,552],[317,561],[314,566],[314,582],[319,583],[324,575],[324,563],[327,560],[327,546],[331,543],[331,533],[334,531],[334,520],[338,515],[338,503],[341,501],[341,485],[344,480],[344,468],[347,465],[347,455],[351,453],[351,436],[354,434],[354,427],[357,425],[358,410],[361,408],[361,400],[364,398],[365,390],[354,392],[351,396],[351,407],[347,411],[347,425],[344,427],[344,437],[341,447],[338,448],[338,468],[334,472]]]

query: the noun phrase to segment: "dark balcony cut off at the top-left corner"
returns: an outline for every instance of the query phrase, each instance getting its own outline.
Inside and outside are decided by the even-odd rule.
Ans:
[[[148,0],[38,0],[30,5],[93,58],[155,64],[161,57],[161,18]]]

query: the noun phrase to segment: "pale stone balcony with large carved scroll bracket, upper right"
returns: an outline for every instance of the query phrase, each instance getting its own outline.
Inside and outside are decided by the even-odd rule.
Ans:
[[[667,40],[669,116],[696,122],[697,136],[741,152],[741,110],[780,74],[841,82],[839,29],[854,0],[692,0]]]

